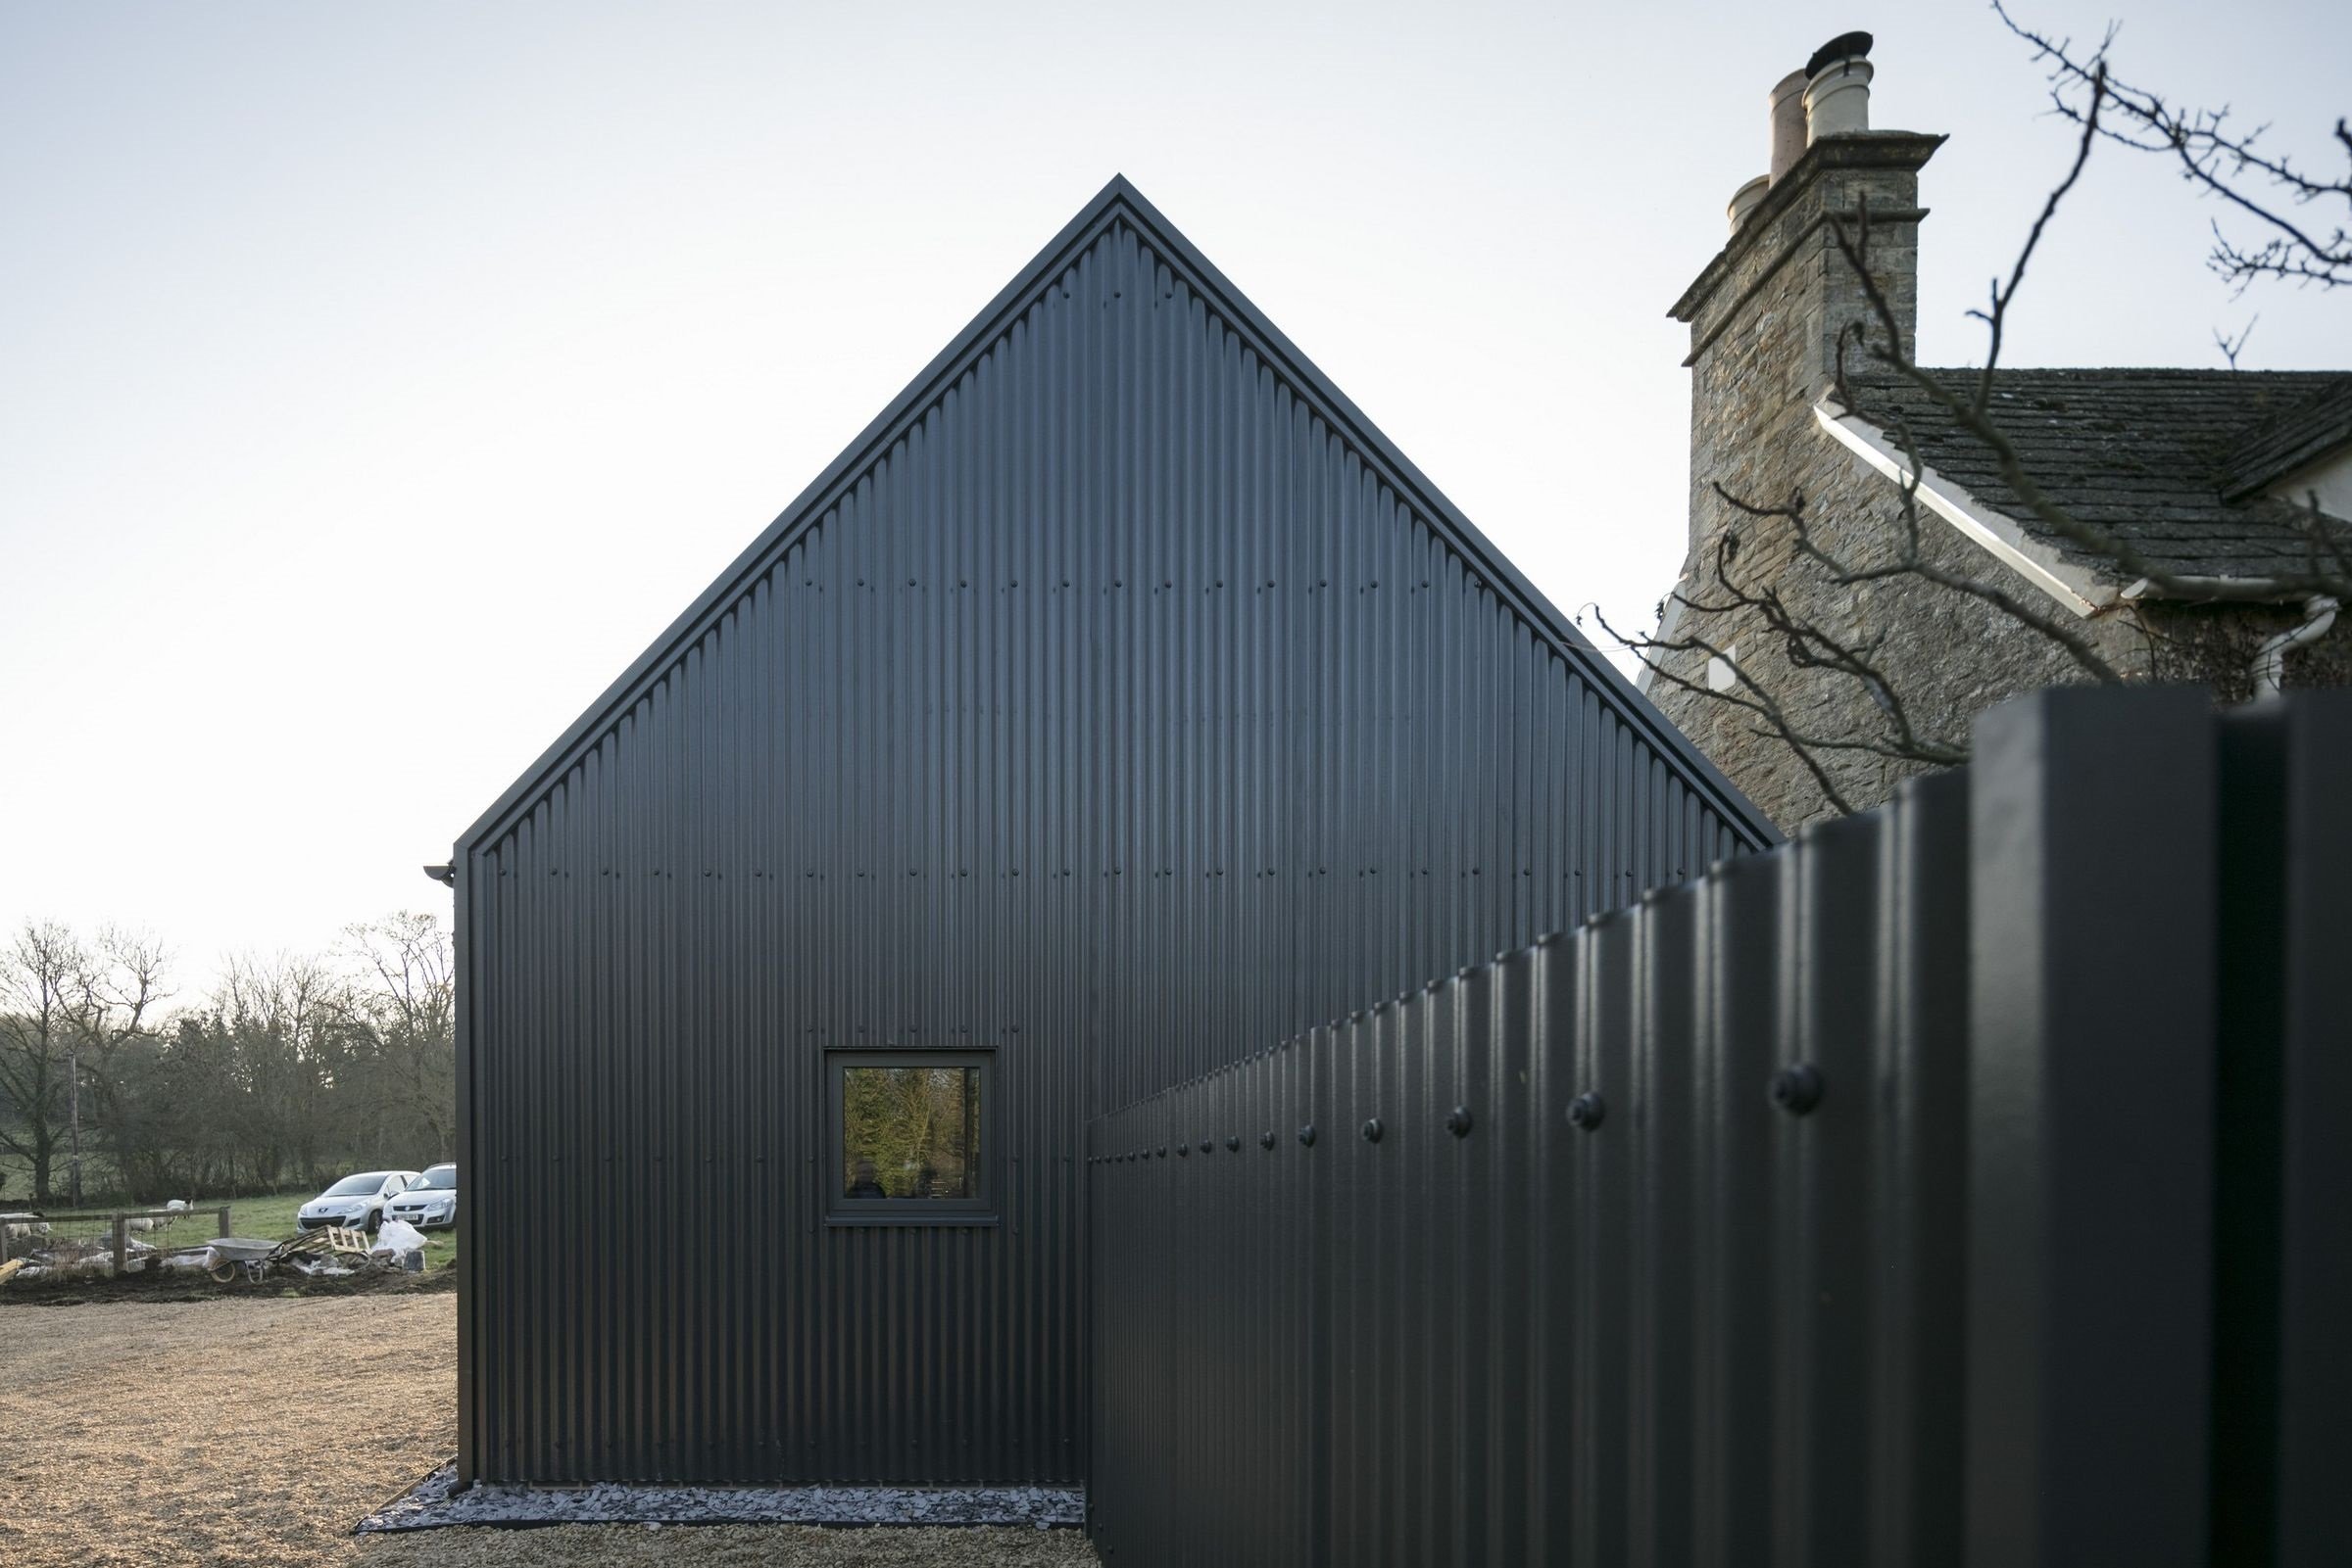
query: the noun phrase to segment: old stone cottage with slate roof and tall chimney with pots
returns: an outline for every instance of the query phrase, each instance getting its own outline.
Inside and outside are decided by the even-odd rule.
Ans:
[[[1863,355],[1860,336],[1884,341],[1886,317],[1910,355],[1919,169],[1943,143],[1870,127],[1867,49],[1867,33],[1839,38],[1771,92],[1771,172],[1733,195],[1731,237],[1675,301],[1691,327],[1691,534],[1656,637],[1677,646],[1649,651],[1646,691],[1792,830],[1835,804],[1790,743],[1726,698],[1771,693],[1792,729],[1820,738],[1884,736],[1884,703],[1851,675],[1799,668],[1788,637],[1738,607],[1719,571],[1867,651],[1919,736],[1957,741],[1990,703],[2093,679],[2063,637],[1983,597],[1917,574],[1839,581],[1799,555],[1785,517],[1733,503],[1802,496],[1813,543],[1870,569],[1905,550],[1905,489],[1917,559],[2011,595],[2129,679],[2197,679],[2223,701],[2352,679],[2352,618],[2336,625],[2336,597],[2307,581],[2352,576],[2352,371],[1999,369],[1990,418],[2020,475],[1924,388]],[[1839,233],[1849,244],[1867,235],[1863,263],[1884,308]],[[1978,378],[1929,374],[1959,393]],[[2166,581],[2053,531],[2018,477]],[[2314,543],[2314,524],[2331,538]],[[1851,809],[1882,804],[1929,766],[1809,750]]]

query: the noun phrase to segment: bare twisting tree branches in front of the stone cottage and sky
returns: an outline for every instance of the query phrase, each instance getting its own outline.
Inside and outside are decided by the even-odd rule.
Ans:
[[[1994,5],[1999,9],[1999,5]],[[2027,266],[2037,247],[2058,219],[2060,205],[2074,190],[2103,143],[2126,146],[2143,153],[2164,153],[2180,162],[2183,179],[2204,195],[2230,205],[2244,221],[2258,226],[2258,237],[2234,237],[2220,223],[2213,230],[2211,266],[2216,273],[2244,289],[2256,280],[2296,280],[2319,287],[2352,282],[2352,237],[2345,223],[2310,221],[2305,209],[2333,205],[2352,212],[2352,176],[2314,179],[2300,172],[2288,158],[2272,158],[2258,150],[2260,132],[2239,134],[2230,122],[2230,110],[2180,108],[2161,94],[2117,82],[2105,61],[2105,42],[2096,54],[2077,56],[2070,42],[2051,40],[2018,26],[2006,12],[2002,21],[2032,45],[2039,61],[2051,68],[2051,96],[2070,122],[2079,127],[2072,162],[2065,176],[2051,188],[2039,216],[2025,235],[2006,280],[1994,280],[1985,308],[1969,315],[1985,327],[1985,362],[1973,378],[1950,383],[1922,369],[1905,343],[1893,303],[1875,282],[1870,261],[1870,212],[1867,205],[1853,221],[1832,221],[1835,244],[1844,263],[1853,270],[1867,301],[1867,322],[1849,324],[1839,334],[1835,364],[1835,397],[1846,411],[1870,411],[1872,393],[1858,371],[1872,378],[1910,388],[1922,395],[1957,430],[1980,442],[1997,461],[2002,480],[2032,512],[2032,520],[2072,545],[2079,555],[2105,564],[2114,576],[2136,581],[2140,592],[2154,592],[2178,602],[2296,602],[2310,607],[2336,607],[2352,602],[2352,550],[2340,524],[2331,522],[2317,498],[2303,505],[2303,559],[2288,569],[2263,576],[2183,576],[2166,564],[2150,559],[2129,538],[2105,529],[2049,494],[2030,470],[2016,442],[2002,430],[1994,416],[1994,371],[2002,364],[2004,336],[2011,308],[2025,284]],[[2352,160],[2352,134],[2343,120],[2336,122],[2336,141]],[[2284,195],[2284,202],[2279,200]],[[2244,336],[2223,341],[2232,360],[2244,346]],[[1867,696],[1863,710],[1870,717],[1858,726],[1828,726],[1809,717],[1820,705],[1802,703],[1802,691],[1759,679],[1752,661],[1736,661],[1731,649],[1708,632],[1665,630],[1672,621],[1663,614],[1661,630],[1632,635],[1613,628],[1597,607],[1588,607],[1599,628],[1621,646],[1635,651],[1651,670],[1651,679],[1689,691],[1708,703],[1719,703],[1748,717],[1755,733],[1780,741],[1820,788],[1830,809],[1851,813],[1853,802],[1839,790],[1835,759],[1839,755],[1867,752],[1919,766],[1950,766],[1966,762],[1966,733],[1938,733],[1915,717],[1915,693],[1903,691],[1884,658],[1891,630],[1856,635],[1846,625],[1830,625],[1818,614],[1799,609],[1802,595],[1790,595],[1783,583],[1764,571],[1750,571],[1748,559],[1757,555],[1752,545],[1771,543],[1771,555],[1792,557],[1813,574],[1813,585],[1842,590],[1910,578],[1938,592],[1962,595],[1987,607],[2002,623],[2020,635],[2039,639],[2063,654],[2082,679],[2119,682],[2124,670],[2086,637],[2079,625],[2070,625],[2065,614],[2053,614],[2032,592],[2011,592],[2009,578],[1994,574],[1971,574],[1940,564],[1926,548],[1926,534],[1936,524],[1922,520],[1919,480],[1926,461],[1919,451],[1915,428],[1900,414],[1884,418],[1905,456],[1900,480],[1900,505],[1893,538],[1872,538],[1865,557],[1837,550],[1825,543],[1823,529],[1809,510],[1809,498],[1792,494],[1785,498],[1733,496],[1717,487],[1717,496],[1733,508],[1740,527],[1726,529],[1705,562],[1705,585],[1677,590],[1668,604],[1696,611],[1700,625],[1731,618],[1748,628],[1762,628],[1780,649],[1795,684],[1849,682]],[[1783,548],[1785,545],[1785,548]],[[2126,611],[2129,614],[2129,611]],[[1679,616],[1675,618],[1679,621]],[[2147,639],[2161,632],[2138,625]],[[1712,672],[1726,672],[1715,682],[1675,668],[1672,656],[1703,656]],[[2267,654],[2265,654],[2267,656]]]

